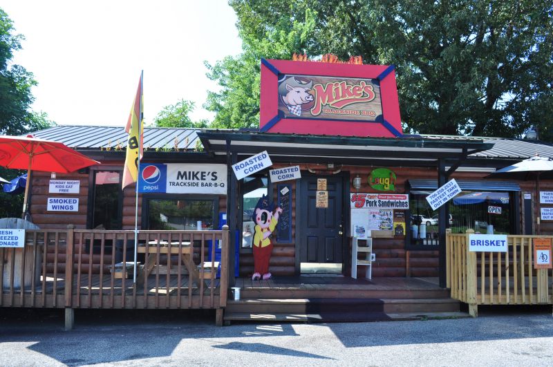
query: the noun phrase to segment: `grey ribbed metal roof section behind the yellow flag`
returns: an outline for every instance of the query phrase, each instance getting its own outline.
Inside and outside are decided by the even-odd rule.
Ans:
[[[191,151],[196,148],[196,129],[144,127],[145,149],[174,149]],[[75,149],[115,149],[126,147],[129,134],[124,126],[61,125],[32,133],[37,138],[62,142]]]

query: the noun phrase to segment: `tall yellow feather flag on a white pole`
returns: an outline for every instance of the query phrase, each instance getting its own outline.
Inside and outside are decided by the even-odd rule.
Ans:
[[[133,106],[126,122],[125,131],[129,133],[126,144],[125,167],[123,169],[123,189],[136,182],[138,178],[138,160],[144,154],[144,124],[142,124],[142,74],[134,97]]]

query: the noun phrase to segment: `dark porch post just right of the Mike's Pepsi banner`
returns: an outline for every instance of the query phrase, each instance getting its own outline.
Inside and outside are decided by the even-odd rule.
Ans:
[[[234,259],[236,258],[236,214],[238,207],[238,181],[232,172],[232,164],[236,163],[236,152],[231,152],[230,140],[227,140],[227,225],[229,226],[229,247],[228,247],[228,279],[229,287],[236,285],[236,277],[234,272],[236,266]]]

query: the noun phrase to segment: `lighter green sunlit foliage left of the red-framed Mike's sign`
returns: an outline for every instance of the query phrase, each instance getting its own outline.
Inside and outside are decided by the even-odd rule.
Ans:
[[[209,91],[204,104],[205,109],[216,113],[211,127],[258,127],[261,57],[290,59],[292,53],[305,52],[312,39],[315,15],[310,10],[306,10],[301,21],[281,18],[274,27],[262,29],[261,20],[252,8],[244,6],[251,17],[238,24],[243,53],[225,57],[214,65],[205,63],[209,70],[207,77],[221,87],[217,92]],[[254,34],[248,28],[252,24],[259,24]]]

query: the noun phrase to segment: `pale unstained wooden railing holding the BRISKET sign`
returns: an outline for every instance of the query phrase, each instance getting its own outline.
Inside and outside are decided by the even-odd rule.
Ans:
[[[552,304],[552,270],[534,269],[533,238],[507,236],[507,252],[469,252],[469,235],[446,236],[447,287],[451,298],[469,304],[478,316],[478,305]]]

